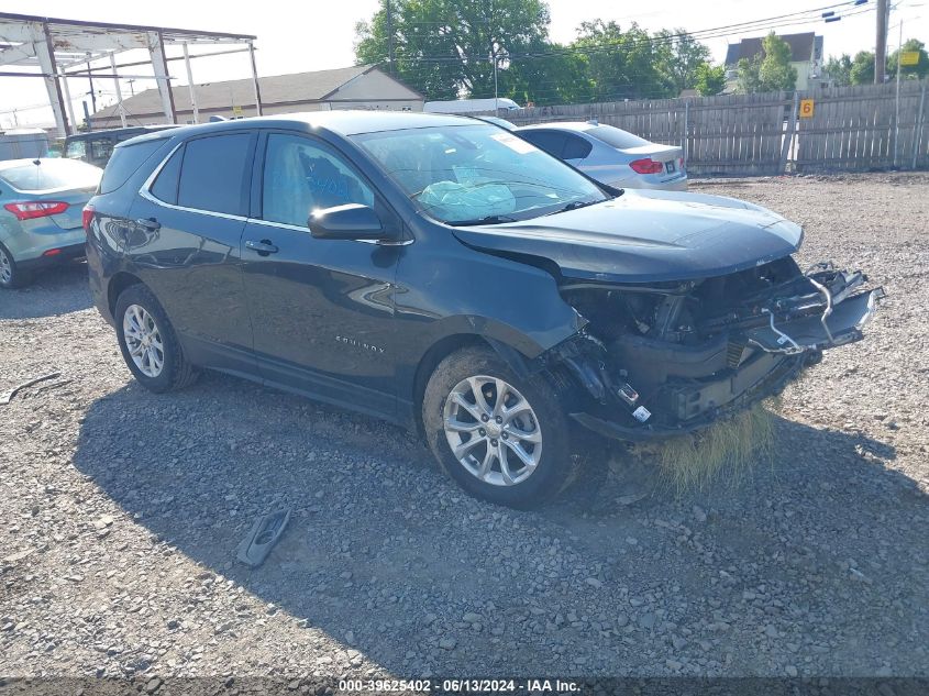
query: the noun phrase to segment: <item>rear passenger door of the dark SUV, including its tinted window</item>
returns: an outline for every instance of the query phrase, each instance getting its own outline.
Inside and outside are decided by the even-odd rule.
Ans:
[[[256,133],[190,139],[148,177],[125,256],[165,307],[191,360],[254,373],[239,248]]]

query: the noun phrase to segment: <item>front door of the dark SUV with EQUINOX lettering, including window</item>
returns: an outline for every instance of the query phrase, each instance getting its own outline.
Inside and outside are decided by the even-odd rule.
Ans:
[[[265,153],[261,213],[246,222],[242,259],[262,375],[391,417],[394,281],[403,247],[313,237],[311,210],[377,209],[374,190],[318,139],[269,133],[258,147]]]

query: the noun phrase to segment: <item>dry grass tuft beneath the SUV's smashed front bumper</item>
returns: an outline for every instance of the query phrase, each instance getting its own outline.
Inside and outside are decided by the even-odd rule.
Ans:
[[[774,417],[756,405],[693,434],[657,443],[662,482],[677,496],[704,490],[725,475],[737,487],[759,462],[771,462]]]

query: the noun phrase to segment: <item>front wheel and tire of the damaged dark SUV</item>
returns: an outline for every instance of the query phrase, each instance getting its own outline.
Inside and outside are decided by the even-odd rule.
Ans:
[[[485,395],[483,402],[475,388]],[[494,416],[500,412],[499,394],[501,406],[512,409],[502,422]],[[555,389],[542,375],[518,377],[490,349],[462,349],[439,363],[423,394],[422,422],[442,468],[476,498],[538,507],[572,477],[571,429]]]

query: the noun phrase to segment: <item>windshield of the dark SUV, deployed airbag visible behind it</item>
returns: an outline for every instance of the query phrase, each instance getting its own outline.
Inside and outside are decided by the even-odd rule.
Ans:
[[[569,166],[493,125],[406,129],[354,140],[423,212],[450,224],[528,220],[608,198]]]

